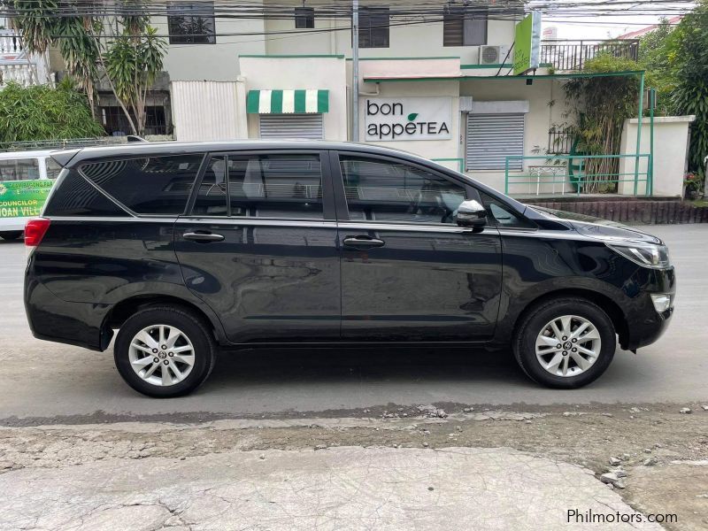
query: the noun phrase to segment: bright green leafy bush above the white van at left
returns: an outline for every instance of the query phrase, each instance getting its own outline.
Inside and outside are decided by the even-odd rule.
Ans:
[[[12,82],[0,90],[0,143],[101,135],[86,96],[70,83],[52,89]]]

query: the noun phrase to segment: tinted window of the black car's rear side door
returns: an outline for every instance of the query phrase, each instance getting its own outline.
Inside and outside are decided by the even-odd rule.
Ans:
[[[227,202],[228,196],[228,202]],[[322,219],[319,155],[233,155],[209,162],[193,214]]]

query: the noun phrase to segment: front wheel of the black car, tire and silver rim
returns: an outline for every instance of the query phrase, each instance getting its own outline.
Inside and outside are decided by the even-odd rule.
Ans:
[[[568,319],[569,316],[572,318]],[[550,325],[551,321],[555,328]],[[579,337],[574,337],[575,330],[586,322],[589,326],[581,330]],[[568,329],[570,335],[564,335]],[[561,334],[559,338],[557,331]],[[540,356],[537,356],[537,342]],[[576,389],[604,373],[612,362],[616,343],[612,319],[599,306],[580,297],[557,297],[526,312],[519,322],[512,347],[516,361],[531,380],[550,388]],[[593,358],[589,352],[596,356]],[[556,367],[558,360],[560,364]]]

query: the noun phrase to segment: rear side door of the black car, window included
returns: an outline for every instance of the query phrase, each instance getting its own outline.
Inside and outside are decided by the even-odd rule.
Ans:
[[[341,300],[327,152],[212,154],[175,227],[187,287],[232,342],[339,339]]]

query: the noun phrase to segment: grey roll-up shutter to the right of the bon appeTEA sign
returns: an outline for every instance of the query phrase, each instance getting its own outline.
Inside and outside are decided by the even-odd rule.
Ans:
[[[522,112],[467,115],[467,170],[503,170],[508,155],[523,154]],[[521,159],[509,161],[512,170],[522,165]]]

